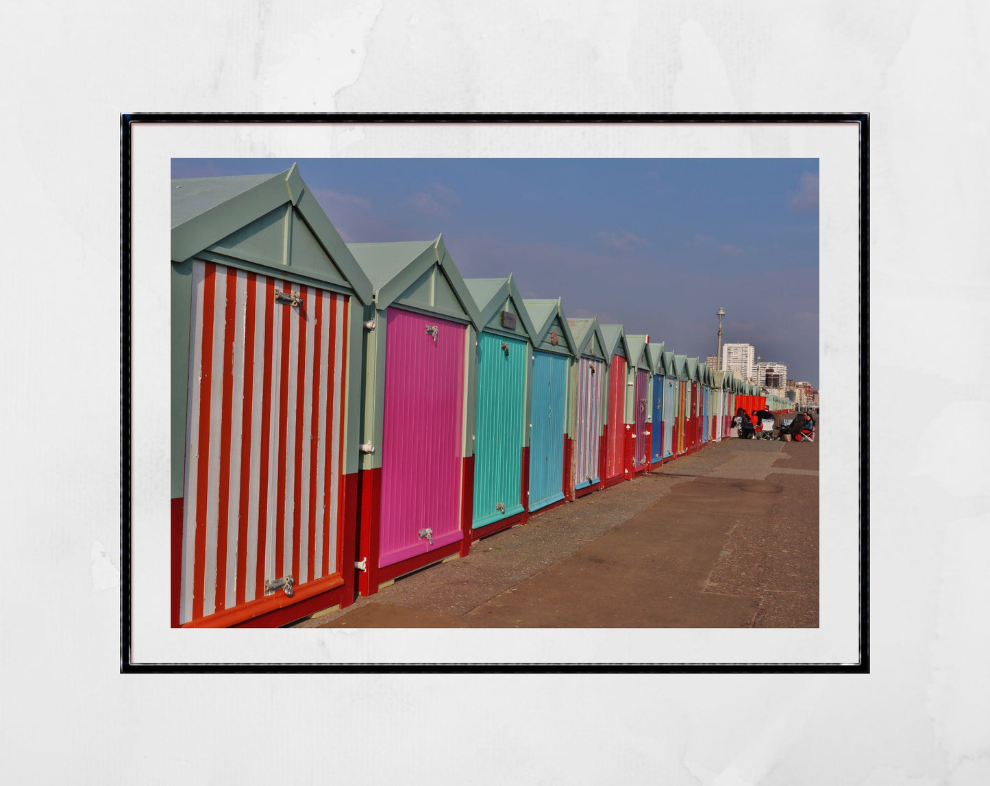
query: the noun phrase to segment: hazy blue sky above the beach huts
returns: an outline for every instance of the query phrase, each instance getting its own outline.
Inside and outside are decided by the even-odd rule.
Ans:
[[[818,386],[816,158],[296,159],[348,243],[444,234],[465,278],[515,275],[704,360],[753,344]],[[173,159],[173,177],[274,173],[293,159]]]

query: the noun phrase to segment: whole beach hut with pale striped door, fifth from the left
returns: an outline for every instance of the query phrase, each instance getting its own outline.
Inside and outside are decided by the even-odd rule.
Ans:
[[[567,326],[574,338],[577,358],[572,373],[570,427],[574,440],[570,476],[573,500],[602,488],[608,355],[596,317],[568,319]]]

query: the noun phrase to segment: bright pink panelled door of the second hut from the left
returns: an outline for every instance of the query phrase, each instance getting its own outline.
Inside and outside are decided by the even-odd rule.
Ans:
[[[387,312],[379,567],[461,538],[466,330]]]

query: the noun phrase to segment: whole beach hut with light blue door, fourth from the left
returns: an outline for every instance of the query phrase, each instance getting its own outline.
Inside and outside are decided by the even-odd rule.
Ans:
[[[533,513],[564,502],[569,494],[573,439],[571,366],[576,357],[574,336],[556,300],[524,300],[533,324],[534,350],[530,404],[530,480],[527,511]]]

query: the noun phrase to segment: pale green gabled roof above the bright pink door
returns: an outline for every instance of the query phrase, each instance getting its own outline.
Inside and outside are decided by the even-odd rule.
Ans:
[[[481,315],[443,235],[435,241],[350,243],[347,248],[371,283],[377,309],[402,301],[441,314],[457,310],[481,329]]]

